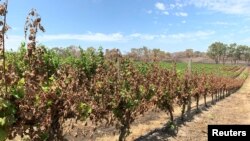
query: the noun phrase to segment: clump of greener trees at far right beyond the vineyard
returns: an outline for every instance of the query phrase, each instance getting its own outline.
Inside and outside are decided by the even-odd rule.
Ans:
[[[237,45],[236,43],[225,44],[214,42],[208,47],[207,55],[216,64],[227,63],[247,63],[250,62],[250,47],[247,45]]]

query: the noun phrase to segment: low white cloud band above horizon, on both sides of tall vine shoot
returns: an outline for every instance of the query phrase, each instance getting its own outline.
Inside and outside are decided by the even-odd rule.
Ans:
[[[87,33],[87,34],[55,34],[55,35],[42,35],[38,36],[38,43],[46,45],[46,42],[53,42],[55,45],[60,41],[67,40],[78,40],[78,41],[91,41],[91,42],[131,42],[136,40],[143,41],[169,41],[169,42],[180,42],[189,40],[199,40],[207,38],[213,35],[214,31],[196,31],[188,33],[176,33],[176,34],[144,34],[144,33],[134,33],[124,35],[121,33]],[[23,36],[19,35],[9,35],[6,40],[7,49],[18,49],[20,43],[25,41]],[[74,41],[75,42],[75,41]]]

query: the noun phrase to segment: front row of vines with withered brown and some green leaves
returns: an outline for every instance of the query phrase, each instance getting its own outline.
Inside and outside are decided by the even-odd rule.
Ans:
[[[102,48],[79,48],[78,55],[67,51],[62,55],[36,45],[37,32],[45,30],[34,9],[25,25],[27,47],[22,43],[18,51],[1,58],[6,63],[0,68],[0,140],[16,135],[62,140],[64,121],[76,118],[97,125],[116,124],[123,141],[135,118],[152,108],[166,111],[173,122],[177,103],[184,119],[192,98],[198,110],[200,97],[205,105],[207,96],[216,102],[244,82],[188,71],[182,75],[175,65],[163,69],[157,62],[138,67],[119,50],[109,57]]]

